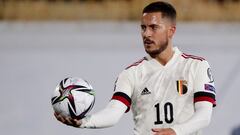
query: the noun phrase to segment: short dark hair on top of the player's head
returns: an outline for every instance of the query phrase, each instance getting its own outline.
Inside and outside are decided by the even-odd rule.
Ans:
[[[170,18],[173,22],[176,22],[177,12],[175,8],[167,2],[157,1],[150,3],[143,9],[142,13],[144,14],[153,12],[161,12],[163,18],[167,17]]]

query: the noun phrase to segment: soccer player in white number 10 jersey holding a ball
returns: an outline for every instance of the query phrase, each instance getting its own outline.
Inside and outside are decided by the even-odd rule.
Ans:
[[[176,11],[166,2],[143,9],[141,34],[147,56],[120,73],[107,107],[81,120],[55,114],[80,128],[113,126],[131,108],[134,135],[199,135],[216,105],[208,62],[173,47]],[[106,115],[107,114],[107,115]]]

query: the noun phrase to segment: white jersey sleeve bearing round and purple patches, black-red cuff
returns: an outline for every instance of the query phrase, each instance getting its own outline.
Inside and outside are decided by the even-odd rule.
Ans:
[[[194,79],[194,103],[208,101],[216,106],[216,92],[211,68],[207,61],[201,61]]]

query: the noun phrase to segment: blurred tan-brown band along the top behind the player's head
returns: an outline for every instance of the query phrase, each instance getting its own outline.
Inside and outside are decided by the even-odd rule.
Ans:
[[[0,0],[0,20],[138,20],[153,0]],[[181,21],[240,21],[240,0],[168,0]]]

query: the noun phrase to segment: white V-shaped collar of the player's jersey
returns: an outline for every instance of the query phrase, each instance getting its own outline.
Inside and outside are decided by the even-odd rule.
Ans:
[[[162,65],[156,59],[152,58],[150,55],[146,56],[146,58],[155,67],[166,68],[171,66],[177,59],[178,55],[181,54],[180,50],[177,47],[173,47],[173,51],[174,51],[173,57],[168,61],[166,65]]]

